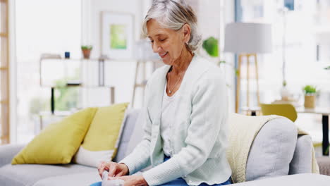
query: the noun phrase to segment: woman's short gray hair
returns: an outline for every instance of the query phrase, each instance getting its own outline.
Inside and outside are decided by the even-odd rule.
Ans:
[[[172,30],[180,30],[185,24],[190,25],[187,48],[196,51],[200,47],[202,36],[197,30],[197,17],[185,0],[154,0],[142,25],[144,35],[147,35],[147,22],[150,19],[155,19],[162,27]]]

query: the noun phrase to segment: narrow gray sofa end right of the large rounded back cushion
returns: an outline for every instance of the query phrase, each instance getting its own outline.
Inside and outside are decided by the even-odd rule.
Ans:
[[[299,135],[295,154],[290,163],[289,174],[312,173],[312,139],[308,135]]]

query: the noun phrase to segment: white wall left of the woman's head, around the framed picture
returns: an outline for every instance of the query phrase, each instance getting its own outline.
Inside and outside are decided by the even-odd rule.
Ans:
[[[92,44],[92,58],[98,58],[101,54],[101,12],[114,11],[133,14],[135,18],[135,40],[140,39],[142,20],[145,16],[150,0],[82,0],[82,44]],[[106,85],[116,87],[116,102],[131,101],[133,96],[133,82],[135,77],[136,61],[111,61],[106,63],[105,82]],[[138,92],[139,94],[140,92]],[[102,106],[109,104],[109,92],[86,92],[89,99],[85,106]],[[137,95],[142,98],[141,93]],[[94,99],[105,97],[104,99]]]

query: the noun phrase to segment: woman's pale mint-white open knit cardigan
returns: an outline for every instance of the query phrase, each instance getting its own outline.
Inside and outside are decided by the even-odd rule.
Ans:
[[[228,107],[226,83],[221,70],[195,54],[180,86],[180,112],[173,116],[173,156],[164,162],[161,146],[161,103],[170,66],[149,78],[141,114],[145,135],[121,163],[130,175],[152,165],[142,175],[149,185],[161,185],[182,177],[188,185],[222,183],[231,176],[226,159]]]

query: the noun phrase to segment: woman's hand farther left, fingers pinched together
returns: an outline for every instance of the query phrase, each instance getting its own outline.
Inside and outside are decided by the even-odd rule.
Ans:
[[[109,171],[108,180],[112,177],[128,175],[128,167],[124,163],[102,161],[97,169],[99,170],[99,176],[101,176],[101,178],[103,171]]]

